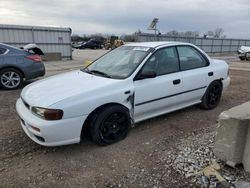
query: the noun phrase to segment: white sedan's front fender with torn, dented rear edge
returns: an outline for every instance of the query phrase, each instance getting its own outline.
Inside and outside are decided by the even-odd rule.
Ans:
[[[105,91],[94,91],[92,93],[79,94],[59,101],[49,108],[62,109],[63,118],[89,115],[100,106],[116,103],[129,109],[133,118],[134,93],[130,84],[122,84],[116,88],[106,88]]]

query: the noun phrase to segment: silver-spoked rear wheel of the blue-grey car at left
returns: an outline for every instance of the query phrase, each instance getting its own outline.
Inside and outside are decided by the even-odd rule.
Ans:
[[[23,75],[14,68],[6,68],[0,71],[0,87],[6,90],[18,89],[23,84]]]

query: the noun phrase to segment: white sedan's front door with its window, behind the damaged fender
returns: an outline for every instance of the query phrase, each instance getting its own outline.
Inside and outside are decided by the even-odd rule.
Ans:
[[[134,81],[135,122],[171,111],[182,103],[179,93],[183,83],[179,69],[175,47],[159,49],[149,58],[139,74],[155,71],[156,77]]]

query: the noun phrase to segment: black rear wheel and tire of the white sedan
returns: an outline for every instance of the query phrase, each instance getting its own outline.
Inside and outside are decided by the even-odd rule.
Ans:
[[[201,108],[211,110],[218,106],[222,94],[222,84],[219,81],[213,81],[207,88],[202,97]]]

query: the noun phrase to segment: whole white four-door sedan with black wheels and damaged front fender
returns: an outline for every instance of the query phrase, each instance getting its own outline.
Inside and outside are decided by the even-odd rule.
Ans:
[[[215,108],[229,85],[228,65],[189,43],[133,43],[88,67],[26,86],[16,103],[36,143],[99,145],[126,137],[134,123],[200,104]]]

